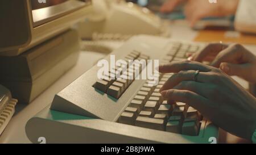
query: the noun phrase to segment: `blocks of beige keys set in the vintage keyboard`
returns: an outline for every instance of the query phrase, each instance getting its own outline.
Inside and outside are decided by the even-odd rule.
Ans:
[[[197,45],[174,42],[162,62],[184,60],[189,54],[195,53],[198,49]],[[138,51],[132,51],[123,60],[129,64],[129,60],[148,60],[149,58],[150,56],[142,55]],[[131,68],[131,65],[133,64],[127,65],[127,70],[116,66],[114,73],[109,72],[109,77],[99,79],[94,87],[118,99],[134,81],[134,78],[138,76],[135,75],[135,70],[140,73],[143,69],[140,64],[134,64],[135,68]],[[115,77],[116,72],[120,72],[121,76],[125,77],[133,74],[133,79],[111,78]],[[122,112],[118,122],[184,135],[198,135],[200,121],[203,119],[200,112],[185,103],[168,104],[167,100],[164,100],[159,93],[159,89],[171,76],[172,73],[159,74],[159,82],[156,86],[148,85],[148,82],[144,83],[129,106]]]

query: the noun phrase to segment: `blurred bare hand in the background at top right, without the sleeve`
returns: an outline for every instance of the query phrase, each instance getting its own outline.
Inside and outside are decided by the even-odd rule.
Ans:
[[[186,2],[184,14],[193,27],[201,18],[235,14],[239,0],[219,0],[217,3],[209,3],[208,0],[168,0],[160,11],[171,12],[183,2]]]

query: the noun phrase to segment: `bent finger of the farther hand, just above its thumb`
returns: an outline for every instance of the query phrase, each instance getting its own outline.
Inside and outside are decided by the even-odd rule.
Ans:
[[[230,62],[230,63],[236,63],[238,61],[242,60],[242,54],[245,49],[242,47],[242,45],[239,44],[233,44],[230,45],[228,48],[224,49],[218,55],[212,62],[212,66],[218,68],[221,64],[221,62]]]

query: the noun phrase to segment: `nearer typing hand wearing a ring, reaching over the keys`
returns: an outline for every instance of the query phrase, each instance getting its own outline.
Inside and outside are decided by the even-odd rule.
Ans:
[[[200,72],[195,78],[196,70]],[[226,131],[251,138],[256,99],[220,69],[183,61],[159,66],[159,72],[175,73],[160,89],[164,98],[187,103]]]

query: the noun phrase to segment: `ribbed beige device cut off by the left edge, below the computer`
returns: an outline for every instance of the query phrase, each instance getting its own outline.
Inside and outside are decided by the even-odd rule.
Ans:
[[[10,91],[0,85],[0,135],[10,122],[17,102],[18,100],[11,97]]]

